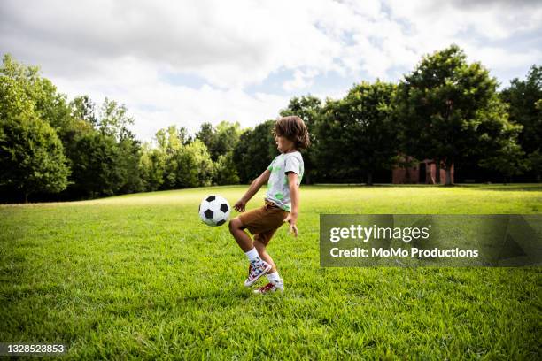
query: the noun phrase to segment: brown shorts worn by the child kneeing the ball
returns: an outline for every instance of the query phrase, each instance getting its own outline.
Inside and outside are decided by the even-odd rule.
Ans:
[[[243,227],[247,228],[254,236],[254,241],[267,245],[275,231],[283,226],[288,213],[273,202],[266,200],[262,207],[241,213],[238,218],[243,223]]]

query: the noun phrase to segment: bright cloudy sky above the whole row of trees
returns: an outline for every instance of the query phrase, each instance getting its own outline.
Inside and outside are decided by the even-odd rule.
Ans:
[[[141,140],[169,125],[253,127],[292,96],[399,81],[456,43],[502,86],[542,65],[542,2],[0,1],[0,53],[69,98],[126,104]]]

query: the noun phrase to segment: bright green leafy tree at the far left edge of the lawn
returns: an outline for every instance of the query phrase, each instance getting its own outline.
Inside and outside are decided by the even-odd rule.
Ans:
[[[67,186],[69,168],[62,143],[40,118],[33,92],[36,67],[4,57],[0,68],[0,186],[21,192],[25,203],[37,192],[57,193]]]

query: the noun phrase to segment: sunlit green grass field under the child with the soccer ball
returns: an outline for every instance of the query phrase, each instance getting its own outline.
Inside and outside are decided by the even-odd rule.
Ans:
[[[320,213],[540,213],[542,185],[301,188],[299,236],[269,246],[283,295],[252,296],[208,194],[0,206],[0,342],[68,358],[540,359],[540,268],[321,268]],[[263,202],[263,189],[248,204]],[[235,212],[234,212],[235,215]]]

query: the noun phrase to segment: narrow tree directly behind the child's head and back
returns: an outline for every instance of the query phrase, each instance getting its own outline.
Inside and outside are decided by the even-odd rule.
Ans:
[[[316,168],[316,150],[318,150],[318,139],[316,137],[316,127],[318,120],[321,118],[321,100],[316,96],[294,96],[290,99],[290,104],[280,111],[281,117],[289,115],[297,115],[303,119],[306,128],[309,132],[311,145],[306,150],[301,150],[303,154],[303,163],[305,165],[305,174],[303,179],[306,184],[311,184],[314,180],[314,175],[317,176]]]

